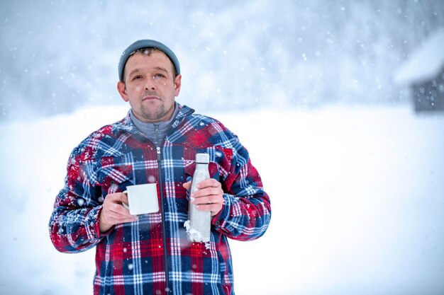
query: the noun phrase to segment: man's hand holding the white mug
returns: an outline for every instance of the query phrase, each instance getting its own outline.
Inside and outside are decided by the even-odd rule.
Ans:
[[[99,216],[99,229],[101,233],[109,231],[115,224],[124,224],[138,220],[130,211],[123,207],[123,202],[128,204],[128,196],[123,192],[116,192],[105,197]]]

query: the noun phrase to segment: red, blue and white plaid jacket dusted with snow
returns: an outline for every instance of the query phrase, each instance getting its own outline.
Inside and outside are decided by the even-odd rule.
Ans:
[[[227,238],[254,240],[267,230],[270,199],[238,137],[217,120],[179,108],[157,149],[128,112],[72,151],[50,218],[50,237],[64,253],[96,246],[96,295],[234,294]],[[190,243],[184,229],[189,192],[182,185],[192,178],[198,152],[209,154],[211,178],[224,192],[209,243]],[[106,195],[142,183],[157,183],[159,212],[100,233]]]

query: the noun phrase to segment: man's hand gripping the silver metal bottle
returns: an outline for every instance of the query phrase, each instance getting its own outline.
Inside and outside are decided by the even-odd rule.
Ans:
[[[187,190],[191,190],[192,183],[184,183]],[[196,209],[203,211],[211,211],[211,216],[215,216],[223,207],[223,190],[222,185],[217,180],[210,178],[196,185],[198,190],[192,193],[192,204],[196,205]]]

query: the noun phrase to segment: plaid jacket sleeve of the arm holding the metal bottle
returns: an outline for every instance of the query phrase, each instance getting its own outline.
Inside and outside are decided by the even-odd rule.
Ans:
[[[255,240],[267,231],[271,218],[270,198],[248,151],[237,137],[224,149],[228,174],[222,182],[223,208],[212,219],[216,231],[238,241]],[[227,152],[228,151],[228,152]]]

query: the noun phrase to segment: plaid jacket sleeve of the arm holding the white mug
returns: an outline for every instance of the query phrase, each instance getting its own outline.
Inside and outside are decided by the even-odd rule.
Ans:
[[[84,159],[89,151],[74,149],[67,165],[65,187],[55,199],[49,231],[52,244],[63,253],[77,253],[98,244],[101,205],[96,187],[91,185]]]

